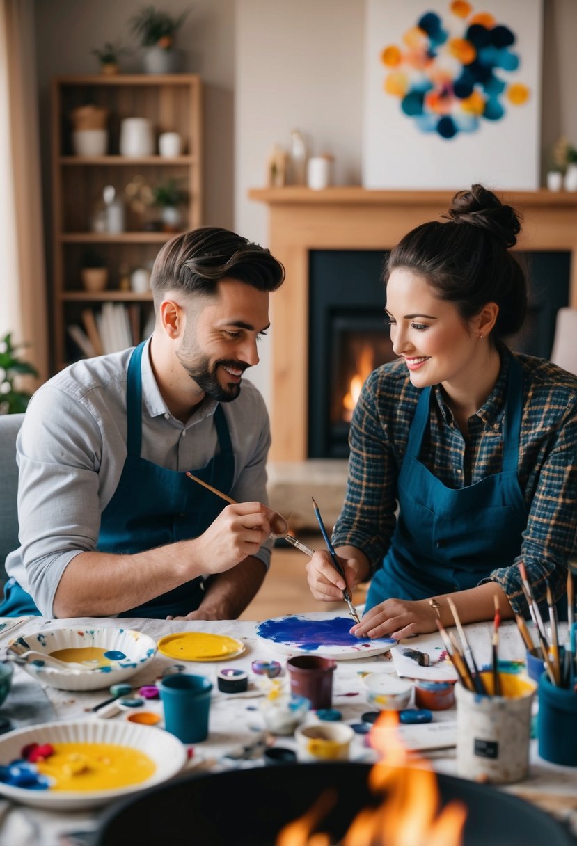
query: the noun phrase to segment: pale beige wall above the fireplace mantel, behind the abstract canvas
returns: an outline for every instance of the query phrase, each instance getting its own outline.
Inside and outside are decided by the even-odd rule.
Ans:
[[[337,184],[360,184],[365,3],[237,0],[235,10],[234,222],[266,245],[267,209],[247,191],[265,184],[268,152],[275,142],[288,149],[291,129],[310,136],[313,152],[333,153]],[[577,0],[544,0],[543,12],[544,169],[559,135],[577,146]],[[267,401],[272,332],[250,371]]]

